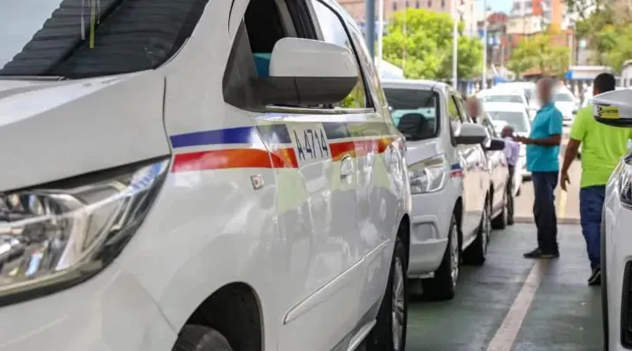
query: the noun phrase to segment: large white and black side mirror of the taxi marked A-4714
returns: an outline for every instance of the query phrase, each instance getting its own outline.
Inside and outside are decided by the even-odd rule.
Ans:
[[[268,77],[256,79],[263,105],[327,105],[343,100],[358,81],[348,48],[324,41],[283,38],[270,55]]]

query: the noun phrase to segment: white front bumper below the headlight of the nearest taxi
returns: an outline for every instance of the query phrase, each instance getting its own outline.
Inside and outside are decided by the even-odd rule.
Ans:
[[[65,291],[1,307],[0,351],[170,351],[177,334],[112,263]]]

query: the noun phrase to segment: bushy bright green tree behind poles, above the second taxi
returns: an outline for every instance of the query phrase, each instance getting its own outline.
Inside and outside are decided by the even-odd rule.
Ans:
[[[423,8],[394,13],[383,37],[384,60],[402,67],[409,79],[452,77],[452,18]],[[463,24],[459,24],[459,33]],[[482,44],[478,39],[459,36],[457,74],[474,77],[480,72]]]

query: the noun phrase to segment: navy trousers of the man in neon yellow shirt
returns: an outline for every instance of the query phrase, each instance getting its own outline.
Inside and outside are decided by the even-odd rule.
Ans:
[[[605,185],[582,187],[579,190],[579,216],[581,217],[581,232],[586,239],[586,251],[591,260],[591,268],[601,265],[601,211],[605,199]]]

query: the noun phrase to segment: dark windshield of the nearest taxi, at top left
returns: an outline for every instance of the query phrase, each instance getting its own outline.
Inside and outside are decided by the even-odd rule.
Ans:
[[[155,68],[190,36],[207,1],[2,0],[0,76],[82,78]]]

